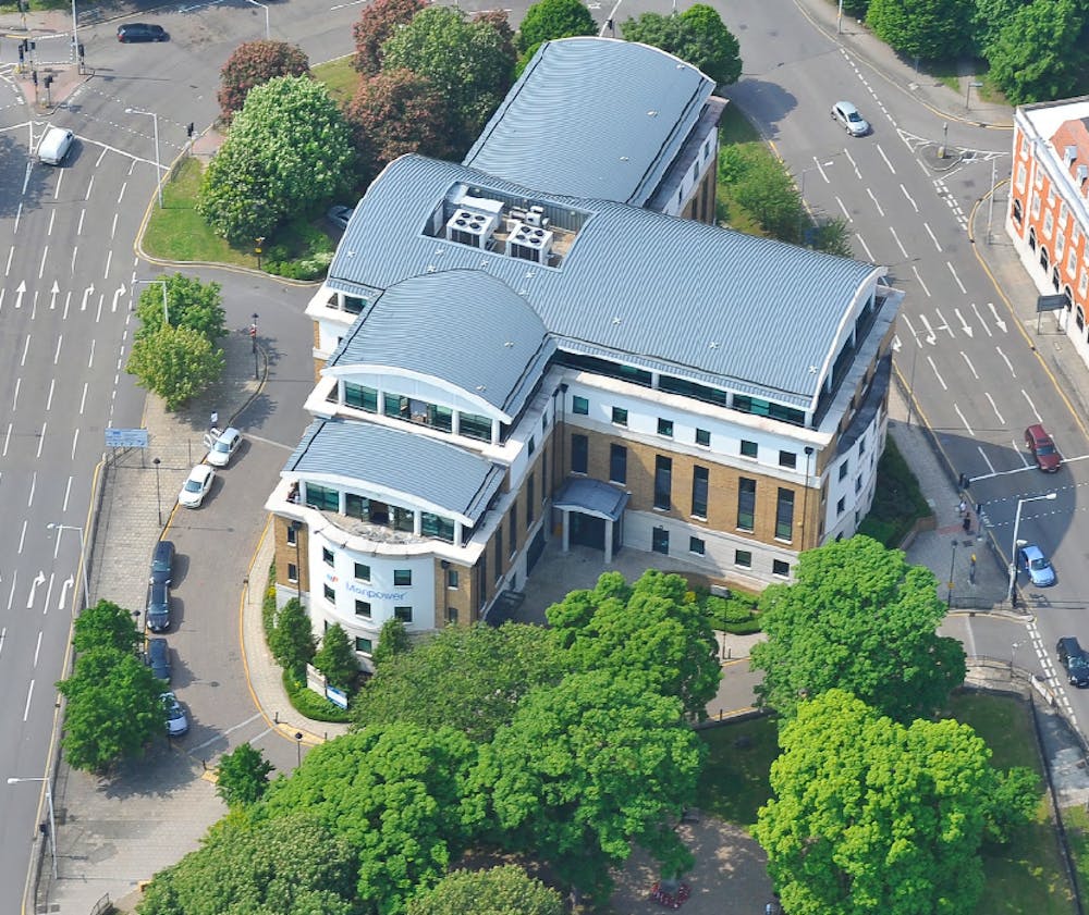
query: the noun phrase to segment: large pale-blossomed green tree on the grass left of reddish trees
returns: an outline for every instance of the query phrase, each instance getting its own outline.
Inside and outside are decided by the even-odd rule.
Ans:
[[[351,132],[325,84],[277,76],[250,89],[234,115],[197,212],[231,244],[248,246],[347,189],[354,166]]]

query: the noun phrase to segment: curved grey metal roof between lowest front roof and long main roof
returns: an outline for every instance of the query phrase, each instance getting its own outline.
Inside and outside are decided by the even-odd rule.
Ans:
[[[517,415],[555,343],[530,305],[478,270],[413,276],[379,296],[328,366],[387,366],[442,379]]]

